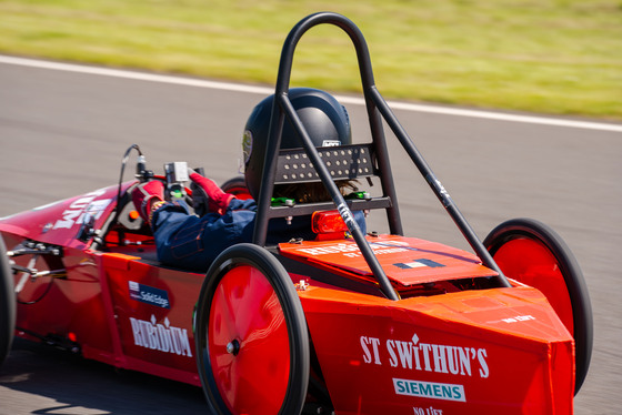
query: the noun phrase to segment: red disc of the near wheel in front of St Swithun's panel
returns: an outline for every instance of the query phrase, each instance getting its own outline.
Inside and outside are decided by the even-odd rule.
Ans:
[[[288,391],[290,341],[277,293],[260,271],[240,265],[223,275],[211,303],[208,342],[229,409],[277,414]]]

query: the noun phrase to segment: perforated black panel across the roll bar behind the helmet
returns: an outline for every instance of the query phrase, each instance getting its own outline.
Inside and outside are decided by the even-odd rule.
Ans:
[[[370,144],[318,149],[333,180],[369,178],[377,174]],[[281,150],[274,184],[318,182],[320,176],[303,149]]]

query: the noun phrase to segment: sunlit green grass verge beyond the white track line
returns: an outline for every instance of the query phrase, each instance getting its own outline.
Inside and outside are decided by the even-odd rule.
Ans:
[[[0,51],[273,84],[322,10],[360,27],[387,98],[622,120],[622,0],[0,0]],[[292,83],[360,90],[345,33],[303,37]]]

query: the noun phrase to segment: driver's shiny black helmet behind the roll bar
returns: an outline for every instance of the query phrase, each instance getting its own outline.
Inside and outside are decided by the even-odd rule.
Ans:
[[[331,94],[310,88],[292,88],[288,95],[315,146],[352,143],[348,112]],[[244,176],[254,199],[259,196],[261,186],[273,101],[274,95],[270,95],[253,109],[242,139]],[[281,149],[301,146],[294,128],[285,117]]]

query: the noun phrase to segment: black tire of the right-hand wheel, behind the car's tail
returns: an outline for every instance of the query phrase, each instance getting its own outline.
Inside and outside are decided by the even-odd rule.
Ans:
[[[570,296],[570,305],[572,306],[573,331],[571,331],[571,334],[575,343],[574,394],[576,395],[588,375],[594,335],[592,305],[583,273],[574,255],[561,236],[551,227],[539,221],[531,219],[513,219],[503,222],[490,232],[483,243],[494,259],[501,247],[516,240],[531,240],[544,245],[554,256],[556,265],[563,276],[568,289],[568,295]],[[530,259],[525,255],[521,256],[520,261],[526,262],[529,260]],[[521,281],[520,275],[512,275],[511,270],[504,270],[501,264],[499,266],[508,277]]]

